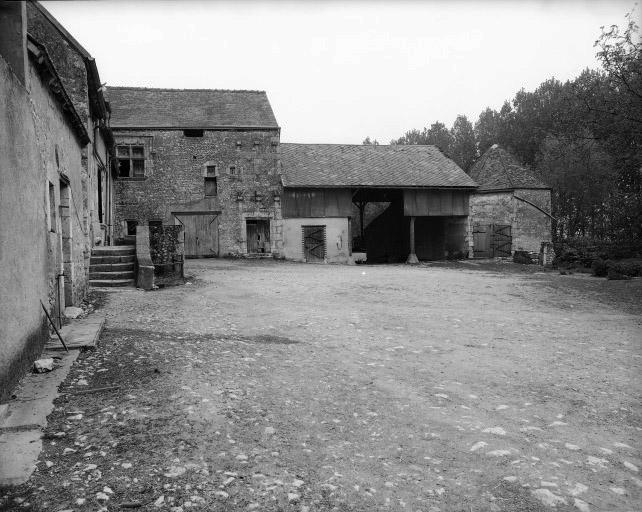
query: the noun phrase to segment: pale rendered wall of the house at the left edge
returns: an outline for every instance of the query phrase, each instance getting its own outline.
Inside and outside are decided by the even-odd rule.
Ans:
[[[27,88],[0,57],[0,400],[40,353],[48,335],[40,301],[57,306],[56,276],[63,269],[59,172],[75,194],[82,190],[81,148],[57,100],[29,66]],[[58,164],[56,164],[58,153]],[[49,183],[54,185],[50,230]],[[79,213],[70,205],[69,214]],[[73,218],[69,260],[71,295],[86,289],[86,240]]]

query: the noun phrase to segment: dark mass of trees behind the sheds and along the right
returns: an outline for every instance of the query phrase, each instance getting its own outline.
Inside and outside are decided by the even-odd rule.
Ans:
[[[600,69],[522,89],[474,125],[459,115],[450,129],[437,121],[390,143],[435,145],[466,172],[500,144],[552,187],[556,240],[642,240],[642,44],[626,19],[595,41]]]

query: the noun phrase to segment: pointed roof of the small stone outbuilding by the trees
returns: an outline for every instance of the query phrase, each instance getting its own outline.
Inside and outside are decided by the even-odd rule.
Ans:
[[[470,169],[470,177],[479,183],[479,191],[516,188],[549,189],[533,173],[498,144],[493,144]]]

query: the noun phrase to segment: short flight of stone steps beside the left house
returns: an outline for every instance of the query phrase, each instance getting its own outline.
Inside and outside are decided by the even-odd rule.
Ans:
[[[90,286],[134,286],[135,245],[94,247],[89,262]]]

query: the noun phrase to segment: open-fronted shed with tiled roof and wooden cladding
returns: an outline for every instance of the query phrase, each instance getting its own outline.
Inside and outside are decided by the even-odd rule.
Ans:
[[[281,144],[281,167],[288,259],[349,262],[353,241],[370,262],[468,256],[476,184],[434,146]]]

